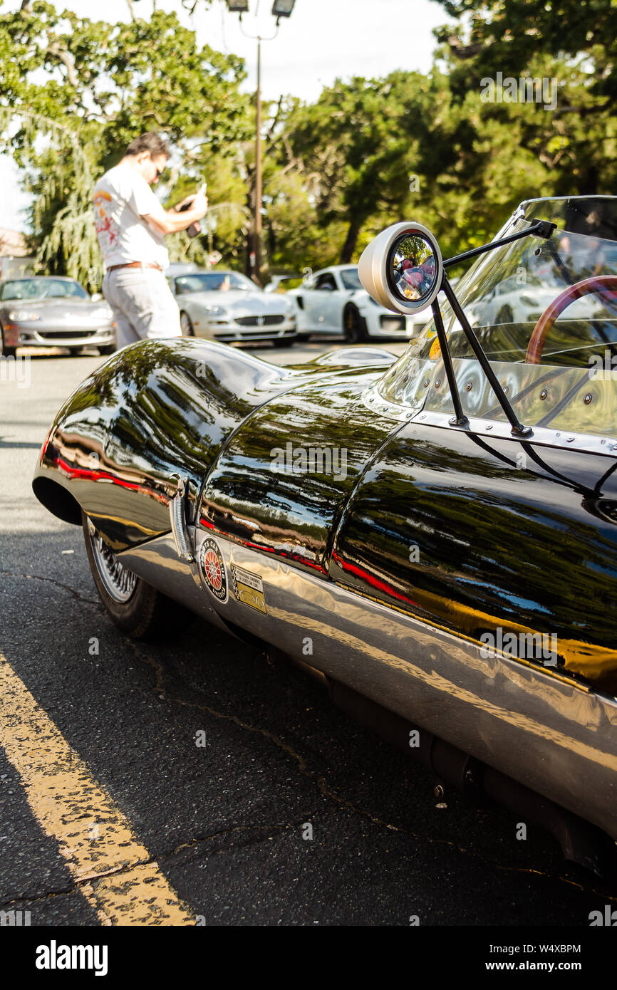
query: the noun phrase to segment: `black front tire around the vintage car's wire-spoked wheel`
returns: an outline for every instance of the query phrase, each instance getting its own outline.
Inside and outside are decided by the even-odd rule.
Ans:
[[[133,590],[126,601],[116,600],[107,590],[99,571],[94,546],[94,541],[97,539],[96,531],[91,532],[90,521],[83,512],[81,513],[81,520],[88,563],[96,590],[103,608],[118,629],[131,637],[132,640],[153,640],[169,635],[177,636],[178,632],[183,631],[192,623],[195,618],[192,612],[161,594],[151,584],[143,581],[141,577],[132,574],[128,568],[123,569],[126,574],[131,575],[132,583],[134,582]],[[119,562],[111,551],[107,550],[106,552],[114,558],[116,563]]]

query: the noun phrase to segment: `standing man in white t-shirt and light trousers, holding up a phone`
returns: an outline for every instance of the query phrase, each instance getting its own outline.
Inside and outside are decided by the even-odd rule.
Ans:
[[[159,135],[143,134],[94,189],[94,224],[105,265],[103,295],[114,313],[118,347],[146,338],[181,337],[179,310],[163,274],[169,264],[164,236],[202,220],[208,199],[198,192],[174,210],[163,210],[151,186],[168,157],[169,146]],[[186,203],[188,209],[177,212]]]

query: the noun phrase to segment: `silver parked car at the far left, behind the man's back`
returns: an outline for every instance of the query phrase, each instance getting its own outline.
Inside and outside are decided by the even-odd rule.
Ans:
[[[0,282],[0,353],[17,347],[116,349],[114,318],[107,303],[72,278],[37,275]]]

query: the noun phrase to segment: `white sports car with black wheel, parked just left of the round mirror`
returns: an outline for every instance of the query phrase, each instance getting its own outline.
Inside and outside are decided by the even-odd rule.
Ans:
[[[432,317],[430,308],[407,317],[384,309],[362,288],[357,265],[336,264],[316,271],[287,296],[298,307],[299,335],[343,334],[353,344],[379,337],[416,338]]]

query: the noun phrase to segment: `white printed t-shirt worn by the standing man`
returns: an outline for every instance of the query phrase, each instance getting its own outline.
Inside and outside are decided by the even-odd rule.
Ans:
[[[158,200],[143,175],[131,165],[115,165],[98,180],[92,196],[94,226],[105,269],[128,261],[169,264],[163,235],[142,217],[152,213]]]

